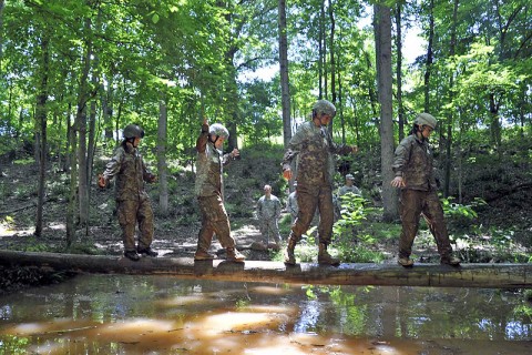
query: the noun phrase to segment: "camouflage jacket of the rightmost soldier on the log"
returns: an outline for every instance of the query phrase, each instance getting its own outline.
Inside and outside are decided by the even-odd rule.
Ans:
[[[405,189],[436,190],[433,158],[427,140],[421,141],[415,134],[405,138],[396,148],[393,172],[402,176]]]

